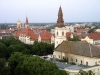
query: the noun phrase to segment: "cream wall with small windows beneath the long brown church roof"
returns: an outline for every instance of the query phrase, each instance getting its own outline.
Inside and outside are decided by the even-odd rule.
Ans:
[[[69,63],[74,62],[77,65],[88,65],[88,66],[94,66],[97,64],[100,64],[100,58],[91,58],[91,57],[85,57],[75,54],[65,54],[59,51],[54,51],[53,55],[57,59],[63,59],[63,57],[68,58]],[[77,61],[76,61],[77,60]],[[88,64],[86,64],[88,62]]]

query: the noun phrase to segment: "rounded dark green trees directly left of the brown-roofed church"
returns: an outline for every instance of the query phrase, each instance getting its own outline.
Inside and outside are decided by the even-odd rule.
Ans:
[[[35,41],[32,47],[32,54],[47,55],[47,54],[52,54],[53,50],[54,50],[54,44]]]

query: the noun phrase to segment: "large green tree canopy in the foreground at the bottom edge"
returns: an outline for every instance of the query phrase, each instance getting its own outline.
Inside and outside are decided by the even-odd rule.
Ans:
[[[41,59],[38,56],[15,52],[9,58],[12,75],[68,75],[59,70],[56,64]]]

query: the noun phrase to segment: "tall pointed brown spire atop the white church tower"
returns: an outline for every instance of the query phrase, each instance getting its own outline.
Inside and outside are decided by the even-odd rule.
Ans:
[[[59,11],[58,11],[58,19],[57,19],[57,24],[56,27],[64,27],[64,20],[63,20],[63,13],[62,13],[62,8],[61,5],[59,7]]]

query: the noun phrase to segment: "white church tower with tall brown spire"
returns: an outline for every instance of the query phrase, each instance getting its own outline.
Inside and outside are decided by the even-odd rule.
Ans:
[[[55,27],[55,48],[66,40],[66,26],[63,20],[63,13],[61,6],[58,11],[58,19]]]

